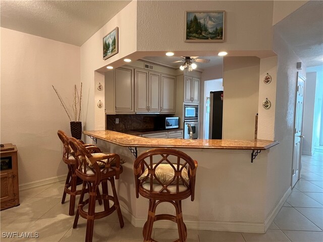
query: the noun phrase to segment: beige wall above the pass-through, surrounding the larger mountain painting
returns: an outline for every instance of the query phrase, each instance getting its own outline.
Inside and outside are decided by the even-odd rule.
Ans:
[[[226,41],[185,43],[185,12],[214,9],[226,11]],[[137,12],[138,50],[205,51],[210,55],[224,49],[272,49],[272,1],[138,1]]]

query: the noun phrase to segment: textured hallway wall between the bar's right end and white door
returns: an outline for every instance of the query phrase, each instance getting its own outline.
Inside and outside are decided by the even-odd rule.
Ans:
[[[275,137],[280,144],[268,154],[266,185],[266,217],[291,188],[296,101],[296,63],[301,59],[275,31],[274,51],[278,55],[275,110]],[[306,76],[306,67],[299,71]]]

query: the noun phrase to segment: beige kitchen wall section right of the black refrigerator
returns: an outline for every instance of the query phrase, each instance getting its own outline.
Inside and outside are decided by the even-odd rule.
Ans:
[[[224,57],[223,139],[254,139],[259,67],[258,57]]]

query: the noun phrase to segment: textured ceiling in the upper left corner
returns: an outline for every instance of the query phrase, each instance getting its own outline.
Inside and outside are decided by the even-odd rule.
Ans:
[[[1,27],[81,46],[130,2],[1,0]]]

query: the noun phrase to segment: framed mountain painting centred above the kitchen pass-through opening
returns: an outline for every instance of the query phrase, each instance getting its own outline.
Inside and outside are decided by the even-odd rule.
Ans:
[[[185,42],[224,42],[225,11],[186,12]]]

